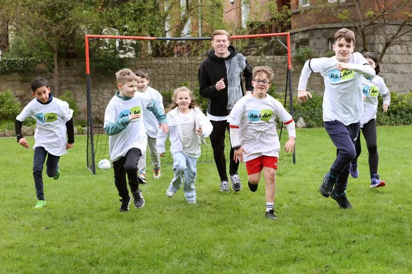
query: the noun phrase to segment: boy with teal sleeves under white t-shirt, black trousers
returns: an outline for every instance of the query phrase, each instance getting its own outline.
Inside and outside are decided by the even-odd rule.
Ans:
[[[117,90],[104,113],[104,130],[109,135],[109,155],[113,162],[114,184],[122,198],[121,212],[129,211],[131,197],[127,189],[126,174],[134,206],[144,206],[144,198],[139,189],[137,164],[141,151],[146,149],[146,136],[141,115],[143,109],[153,112],[162,130],[167,132],[166,115],[156,103],[136,93],[136,75],[129,69],[116,72]]]

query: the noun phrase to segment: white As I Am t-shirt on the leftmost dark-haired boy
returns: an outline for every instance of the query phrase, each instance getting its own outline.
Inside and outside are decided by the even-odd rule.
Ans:
[[[67,153],[66,123],[73,117],[73,110],[67,102],[53,97],[50,103],[41,104],[35,98],[16,119],[22,122],[27,117],[35,118],[37,122],[33,150],[41,146],[54,156]]]

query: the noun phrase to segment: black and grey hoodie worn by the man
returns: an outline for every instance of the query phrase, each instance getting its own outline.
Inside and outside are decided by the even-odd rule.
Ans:
[[[216,56],[214,49],[209,50],[198,71],[199,93],[209,99],[208,113],[214,116],[229,115],[233,105],[242,98],[241,74],[245,77],[246,90],[253,90],[252,66],[233,46],[228,50],[230,54],[226,58]],[[222,78],[226,87],[218,91],[215,85]]]

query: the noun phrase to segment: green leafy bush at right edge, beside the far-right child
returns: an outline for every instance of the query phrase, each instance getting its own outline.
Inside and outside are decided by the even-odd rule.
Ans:
[[[400,126],[412,124],[412,93],[398,94],[391,92],[391,104],[388,112],[382,110],[382,97],[378,97],[376,124],[379,126]]]

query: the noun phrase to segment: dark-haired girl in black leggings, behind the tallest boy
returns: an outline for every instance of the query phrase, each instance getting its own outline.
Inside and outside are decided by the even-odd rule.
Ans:
[[[364,52],[362,54],[368,63],[375,69],[376,76],[373,78],[362,77],[362,93],[364,98],[364,110],[361,116],[361,129],[365,137],[366,145],[369,153],[369,172],[371,178],[371,188],[378,188],[385,186],[385,182],[379,179],[377,174],[378,167],[378,153],[376,143],[376,111],[378,107],[377,96],[383,97],[384,103],[382,108],[384,112],[389,109],[391,103],[391,93],[386,86],[384,79],[378,76],[380,71],[377,56],[374,52]],[[360,133],[360,132],[359,132]],[[358,139],[355,143],[356,158],[350,164],[350,175],[358,178],[358,157],[361,155],[361,138],[358,134]]]

